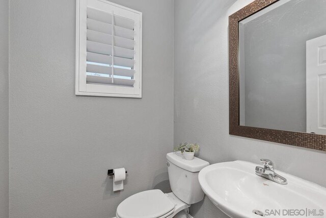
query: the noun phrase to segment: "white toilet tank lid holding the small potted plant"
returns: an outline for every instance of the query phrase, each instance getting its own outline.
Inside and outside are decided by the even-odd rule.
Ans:
[[[181,152],[168,153],[167,159],[180,168],[192,173],[199,172],[202,168],[209,165],[207,161],[197,157],[194,157],[193,160],[186,160]]]

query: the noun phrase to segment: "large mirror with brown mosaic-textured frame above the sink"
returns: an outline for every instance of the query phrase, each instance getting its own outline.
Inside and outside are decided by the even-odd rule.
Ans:
[[[229,17],[230,134],[326,150],[325,23],[326,0],[257,0]]]

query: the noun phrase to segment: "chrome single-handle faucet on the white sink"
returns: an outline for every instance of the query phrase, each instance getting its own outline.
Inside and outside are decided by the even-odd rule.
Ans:
[[[260,159],[260,162],[264,164],[264,167],[256,166],[256,174],[258,176],[264,177],[282,185],[287,184],[287,181],[284,177],[274,172],[274,164],[271,162],[271,160]]]

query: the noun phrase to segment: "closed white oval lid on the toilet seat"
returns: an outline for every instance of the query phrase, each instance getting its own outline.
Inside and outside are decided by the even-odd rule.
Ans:
[[[121,202],[117,208],[117,215],[120,218],[157,218],[171,212],[174,206],[161,190],[148,190]]]

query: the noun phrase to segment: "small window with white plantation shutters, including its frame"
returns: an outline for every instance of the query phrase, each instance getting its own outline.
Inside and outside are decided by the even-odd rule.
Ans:
[[[76,95],[142,98],[142,13],[77,0]]]

